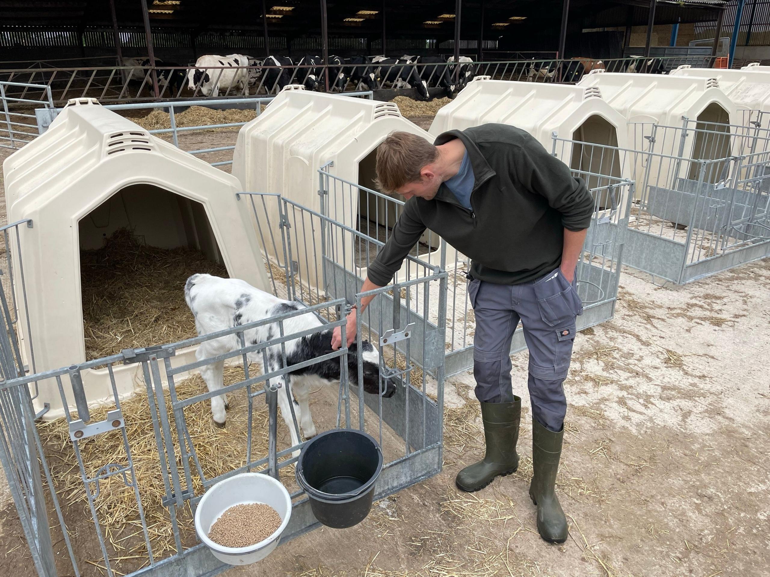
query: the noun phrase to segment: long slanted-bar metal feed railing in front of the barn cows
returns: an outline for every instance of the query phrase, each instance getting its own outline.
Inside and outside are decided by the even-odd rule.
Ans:
[[[380,70],[375,89],[404,88],[425,82],[427,88],[447,88],[455,85],[461,88],[473,76],[487,75],[498,80],[528,82],[578,82],[588,68],[604,68],[608,72],[668,72],[679,65],[688,64],[709,67],[713,58],[701,55],[681,55],[652,58],[654,69],[648,70],[644,58],[595,58],[590,61],[561,58],[524,58],[518,60],[486,60],[483,62],[454,62],[439,64],[395,64]],[[590,62],[590,64],[589,64]],[[599,64],[601,62],[601,64]],[[659,64],[659,66],[658,66]],[[587,66],[588,65],[588,68]],[[363,65],[366,67],[367,65]],[[379,68],[377,64],[369,68]],[[168,98],[240,98],[256,94],[276,94],[283,86],[306,82],[310,74],[316,76],[311,82],[316,89],[325,91],[327,80],[330,92],[344,92],[345,86],[337,82],[340,72],[350,76],[356,65],[289,65],[289,66],[195,66],[167,67],[159,64],[156,68],[142,66],[93,66],[81,68],[17,68],[0,70],[0,80],[44,85],[50,88],[53,101],[63,105],[70,98],[98,98],[100,102],[141,102]],[[199,75],[189,90],[189,73],[200,70],[209,74]],[[233,71],[239,71],[240,75]],[[152,72],[158,79],[158,93],[152,80]],[[368,73],[367,73],[368,74]],[[169,82],[171,80],[171,82]],[[194,81],[194,77],[193,77]],[[222,81],[222,82],[220,82]],[[217,85],[219,94],[213,95],[210,87]],[[353,88],[355,88],[353,86]],[[206,92],[209,95],[206,95]],[[14,96],[27,98],[28,88],[19,90]]]

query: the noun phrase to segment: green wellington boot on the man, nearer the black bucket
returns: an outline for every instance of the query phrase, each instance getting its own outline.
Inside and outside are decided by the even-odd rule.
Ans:
[[[519,440],[521,398],[514,402],[482,402],[481,420],[487,452],[484,459],[457,473],[454,480],[461,491],[484,489],[498,475],[510,475],[519,466],[516,442]]]

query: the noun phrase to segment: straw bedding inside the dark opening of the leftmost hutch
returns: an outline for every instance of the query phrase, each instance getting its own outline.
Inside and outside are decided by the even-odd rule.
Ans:
[[[98,250],[81,251],[85,358],[196,336],[184,285],[189,275],[227,276],[194,248],[156,248],[121,228]]]

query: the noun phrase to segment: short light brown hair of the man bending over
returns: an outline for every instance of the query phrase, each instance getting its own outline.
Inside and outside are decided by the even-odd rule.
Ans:
[[[411,132],[391,132],[377,148],[377,179],[381,192],[396,192],[407,182],[420,180],[420,170],[435,162],[438,149]]]

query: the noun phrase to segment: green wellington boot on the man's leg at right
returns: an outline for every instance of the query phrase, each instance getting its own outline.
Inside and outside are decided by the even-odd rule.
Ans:
[[[547,542],[563,543],[567,540],[567,518],[561,510],[554,492],[556,472],[561,457],[561,432],[553,432],[532,419],[532,482],[530,497],[537,505],[537,531]]]

